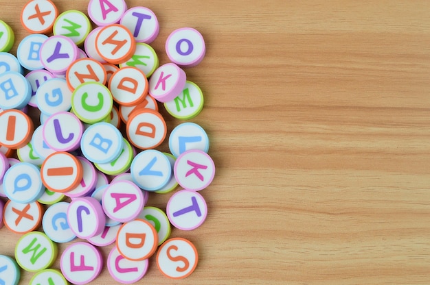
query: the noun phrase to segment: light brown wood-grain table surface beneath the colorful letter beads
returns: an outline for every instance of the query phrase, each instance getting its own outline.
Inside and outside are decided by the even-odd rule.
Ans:
[[[25,1],[1,2],[15,52]],[[139,284],[429,284],[429,1],[126,2],[157,14],[161,63],[174,29],[203,34],[185,71],[217,170],[205,223],[172,232],[196,245],[196,271],[171,282],[150,258]],[[0,253],[18,238],[3,227]],[[111,283],[106,269],[93,282]]]

